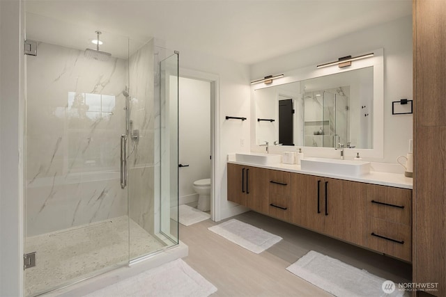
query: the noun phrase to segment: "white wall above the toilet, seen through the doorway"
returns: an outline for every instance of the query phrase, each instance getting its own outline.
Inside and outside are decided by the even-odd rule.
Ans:
[[[179,168],[180,204],[197,201],[192,184],[210,178],[210,82],[180,77]]]

